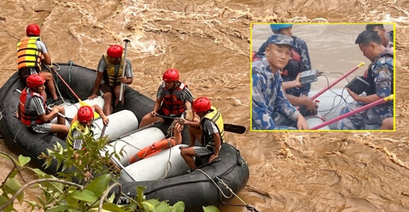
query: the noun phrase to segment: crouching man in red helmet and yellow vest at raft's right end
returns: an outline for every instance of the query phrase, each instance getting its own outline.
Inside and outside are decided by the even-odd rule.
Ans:
[[[195,169],[193,157],[210,155],[209,162],[212,162],[219,156],[221,145],[224,143],[224,123],[220,111],[211,106],[206,97],[197,98],[192,108],[200,117],[200,122],[185,120],[185,124],[189,125],[190,145],[182,148],[180,155],[191,169]],[[194,147],[196,139],[202,144],[201,147]]]

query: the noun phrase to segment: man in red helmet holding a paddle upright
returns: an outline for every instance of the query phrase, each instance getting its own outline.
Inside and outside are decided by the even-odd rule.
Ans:
[[[111,45],[106,51],[106,55],[102,55],[98,64],[98,74],[95,79],[93,94],[88,97],[89,100],[95,99],[98,96],[97,92],[99,89],[105,101],[103,111],[106,115],[112,113],[111,105],[114,98],[114,105],[115,107],[118,106],[121,83],[127,85],[132,83],[132,64],[128,59],[126,59],[125,77],[122,77],[124,67],[122,53],[122,46]]]

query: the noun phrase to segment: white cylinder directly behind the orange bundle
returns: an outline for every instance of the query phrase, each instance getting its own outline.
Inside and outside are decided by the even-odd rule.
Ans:
[[[163,138],[165,138],[165,134],[163,134],[162,130],[156,127],[150,127],[123,137],[121,140],[116,140],[105,148],[109,154],[114,151],[114,147],[117,153],[123,148],[124,156],[120,156],[120,160],[122,165],[126,166],[132,155],[137,154],[141,149],[148,147]],[[101,155],[105,155],[105,152],[101,151]]]

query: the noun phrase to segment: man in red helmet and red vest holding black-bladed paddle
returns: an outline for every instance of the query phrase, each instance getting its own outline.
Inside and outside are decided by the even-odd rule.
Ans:
[[[166,70],[162,79],[164,83],[157,89],[156,102],[153,106],[153,110],[143,117],[139,127],[144,127],[156,121],[172,123],[173,119],[156,117],[156,113],[171,117],[185,117],[186,110],[188,109],[186,102],[193,103],[194,97],[188,85],[179,81],[180,76],[177,69],[170,68]],[[199,121],[194,111],[193,121]]]

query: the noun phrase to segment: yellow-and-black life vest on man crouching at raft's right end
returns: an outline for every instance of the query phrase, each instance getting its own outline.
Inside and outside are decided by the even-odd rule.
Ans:
[[[203,122],[205,121],[205,119],[208,119],[216,125],[217,129],[219,130],[221,144],[224,143],[224,123],[220,111],[213,106],[211,106],[210,109],[212,109],[213,111],[200,118],[200,128],[203,131],[201,142],[204,147],[207,147],[209,150],[214,151],[214,137],[212,135],[209,135],[209,132],[205,128],[203,128]]]

